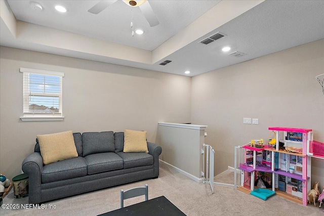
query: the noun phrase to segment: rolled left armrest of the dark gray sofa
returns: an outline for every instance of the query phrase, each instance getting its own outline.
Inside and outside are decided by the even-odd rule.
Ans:
[[[39,152],[33,152],[22,161],[22,170],[28,174],[29,203],[41,202],[43,157]]]

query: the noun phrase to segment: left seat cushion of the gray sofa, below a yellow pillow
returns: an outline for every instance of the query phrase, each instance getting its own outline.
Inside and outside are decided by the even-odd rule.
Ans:
[[[75,157],[43,166],[42,183],[83,176],[87,176],[87,163],[83,157]]]

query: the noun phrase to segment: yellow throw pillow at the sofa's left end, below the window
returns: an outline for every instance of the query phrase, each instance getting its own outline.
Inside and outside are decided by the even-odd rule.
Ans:
[[[44,164],[77,157],[72,131],[37,135],[37,139]]]

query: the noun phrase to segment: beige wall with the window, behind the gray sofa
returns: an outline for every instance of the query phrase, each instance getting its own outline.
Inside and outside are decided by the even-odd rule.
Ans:
[[[191,78],[7,47],[0,49],[0,172],[21,174],[38,134],[147,131],[157,122],[190,122]],[[22,122],[20,67],[64,72],[60,122]]]

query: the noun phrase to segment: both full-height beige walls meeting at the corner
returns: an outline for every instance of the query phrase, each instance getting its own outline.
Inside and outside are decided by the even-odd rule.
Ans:
[[[269,126],[312,128],[314,139],[324,142],[324,95],[314,79],[324,73],[324,40],[192,79],[7,47],[0,52],[0,172],[9,178],[20,174],[37,134],[70,129],[146,130],[155,142],[159,121],[208,125],[215,175],[234,166],[234,146],[268,139]],[[64,121],[19,119],[20,67],[65,72]],[[243,117],[259,118],[259,125],[243,124]],[[312,159],[312,182],[324,178],[323,163]]]

